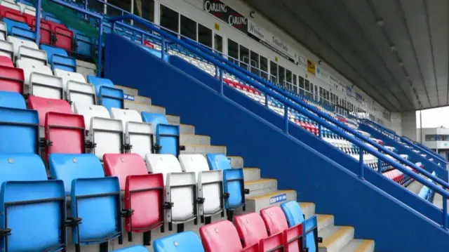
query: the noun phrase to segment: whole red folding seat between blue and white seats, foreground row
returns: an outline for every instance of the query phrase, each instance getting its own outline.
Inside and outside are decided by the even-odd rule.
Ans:
[[[143,244],[150,245],[151,231],[163,230],[163,175],[148,174],[145,161],[138,154],[105,154],[105,173],[119,178],[125,192],[125,230],[128,241],[133,232],[143,232]]]

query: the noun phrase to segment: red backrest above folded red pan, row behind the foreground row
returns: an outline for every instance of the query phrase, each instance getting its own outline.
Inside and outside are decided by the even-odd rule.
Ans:
[[[48,112],[73,114],[72,108],[67,100],[41,98],[29,95],[28,107],[32,110],[37,110],[39,113],[39,126],[45,126],[45,118]]]

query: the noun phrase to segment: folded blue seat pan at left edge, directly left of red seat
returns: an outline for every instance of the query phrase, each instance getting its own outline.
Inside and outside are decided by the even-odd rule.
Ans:
[[[22,101],[14,99],[15,106]],[[0,153],[39,154],[39,115],[35,110],[0,107]]]

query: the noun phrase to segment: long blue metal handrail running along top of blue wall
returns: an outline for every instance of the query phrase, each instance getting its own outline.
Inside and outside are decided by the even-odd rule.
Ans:
[[[429,180],[426,180],[424,178],[422,178],[422,176],[417,175],[415,172],[413,172],[412,170],[405,168],[404,166],[401,166],[401,164],[399,164],[396,161],[393,161],[391,159],[389,159],[388,157],[386,157],[384,154],[381,154],[379,151],[377,151],[375,148],[373,147],[368,147],[366,144],[364,144],[363,142],[361,142],[361,140],[358,140],[357,138],[361,138],[362,140],[370,143],[370,145],[375,146],[377,149],[379,149],[380,151],[389,154],[391,157],[394,157],[395,159],[397,159],[398,161],[401,161],[401,163],[406,164],[408,166],[410,166],[411,168],[415,169],[416,171],[419,171],[420,173],[424,174],[425,176],[427,176],[428,178],[431,178],[431,180],[434,180],[436,183],[441,184],[445,189],[447,189],[449,187],[449,184],[446,183],[445,181],[441,180],[440,178],[435,177],[434,175],[432,175],[431,173],[425,171],[424,169],[416,166],[415,164],[411,163],[410,161],[403,159],[402,157],[400,157],[398,154],[391,152],[390,150],[388,150],[387,148],[383,147],[382,145],[377,144],[377,142],[373,142],[372,140],[370,140],[369,138],[366,138],[364,135],[362,135],[361,133],[358,133],[357,131],[354,131],[352,128],[349,128],[348,126],[342,124],[340,121],[333,119],[332,117],[330,117],[328,114],[321,112],[320,110],[317,110],[314,106],[308,105],[306,102],[302,101],[302,100],[298,100],[297,98],[295,98],[295,96],[290,95],[289,93],[283,92],[283,90],[281,90],[281,88],[277,88],[276,86],[273,86],[272,84],[267,83],[267,81],[264,81],[264,79],[257,77],[257,75],[255,74],[251,74],[249,73],[250,77],[253,77],[254,79],[257,79],[257,81],[261,81],[263,84],[257,83],[256,81],[253,81],[253,79],[250,79],[250,77],[246,76],[246,74],[242,74],[241,72],[241,68],[239,68],[238,66],[228,66],[227,64],[232,64],[231,62],[226,62],[223,63],[222,61],[225,59],[220,59],[217,60],[215,58],[215,55],[209,55],[208,53],[203,53],[203,49],[202,48],[196,48],[194,46],[191,46],[190,44],[186,43],[185,41],[182,41],[180,39],[177,39],[175,37],[173,37],[173,35],[169,34],[168,32],[165,31],[161,31],[160,29],[156,28],[154,25],[152,25],[152,23],[148,22],[147,20],[144,20],[140,17],[137,17],[135,15],[123,15],[121,17],[114,17],[111,18],[109,21],[111,22],[116,22],[119,20],[124,20],[124,19],[131,19],[134,20],[135,22],[139,22],[141,25],[145,25],[147,28],[151,29],[151,30],[157,30],[157,32],[159,34],[161,34],[163,37],[167,37],[168,39],[170,39],[171,41],[176,41],[177,44],[180,44],[181,46],[187,48],[188,50],[197,53],[198,55],[200,55],[203,58],[206,58],[206,60],[213,62],[213,64],[215,64],[216,67],[220,67],[220,93],[223,94],[223,81],[222,81],[222,74],[223,74],[223,70],[226,70],[227,72],[232,72],[232,74],[236,75],[236,77],[239,77],[240,79],[243,79],[245,81],[248,81],[250,84],[253,84],[253,86],[256,86],[257,88],[261,89],[266,95],[269,94],[270,96],[272,96],[273,98],[276,98],[276,100],[281,100],[284,103],[284,119],[286,121],[285,124],[285,131],[288,132],[288,107],[291,107],[295,110],[297,110],[298,112],[301,112],[302,114],[306,114],[307,117],[310,117],[312,119],[314,119],[314,121],[316,121],[317,123],[326,126],[326,128],[330,128],[333,129],[333,131],[335,133],[337,133],[337,135],[342,136],[343,138],[346,138],[347,140],[349,140],[350,142],[355,143],[359,149],[360,149],[360,158],[359,158],[359,164],[360,164],[360,169],[359,169],[359,177],[361,179],[364,179],[364,169],[365,166],[363,164],[363,152],[370,152],[372,153],[375,157],[377,157],[378,159],[382,160],[382,161],[386,161],[388,163],[391,163],[391,166],[394,166],[394,168],[397,168],[399,171],[402,171],[403,173],[405,173],[406,175],[409,175],[410,177],[414,178],[415,180],[417,180],[418,182],[422,183],[423,185],[426,185],[427,187],[433,189],[435,192],[438,192],[439,194],[441,194],[441,196],[443,197],[443,221],[442,221],[442,225],[443,227],[448,227],[448,218],[447,218],[447,213],[448,213],[448,209],[447,209],[447,200],[449,198],[449,192],[447,192],[446,190],[443,190],[441,187],[438,187],[438,185],[435,185],[434,183],[431,183]],[[164,43],[162,44],[162,49],[165,50],[165,45]],[[213,54],[213,53],[212,53]],[[227,60],[225,60],[227,61]],[[233,64],[232,64],[233,65]],[[234,69],[236,68],[239,69]],[[267,87],[269,86],[269,87]],[[274,90],[276,90],[279,93],[282,93],[283,95],[276,93],[274,91],[272,91],[270,88],[273,88]],[[288,100],[287,98],[291,99]],[[296,101],[297,103],[293,102]],[[318,116],[316,116],[315,114],[318,114]],[[323,119],[324,118],[324,119]],[[349,133],[351,133],[352,135],[347,134],[346,132],[344,132],[342,129],[337,128],[335,126],[333,126],[332,124],[330,124],[328,121],[326,121],[325,119],[328,119],[328,121],[331,121],[333,124],[336,124],[337,126],[340,126],[340,128],[343,128],[344,131],[349,131]],[[356,137],[354,137],[353,135],[355,135]],[[378,169],[380,171],[380,169]]]

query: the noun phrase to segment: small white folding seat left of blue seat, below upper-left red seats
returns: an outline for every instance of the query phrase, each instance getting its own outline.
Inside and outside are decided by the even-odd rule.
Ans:
[[[46,51],[39,50],[39,47],[33,41],[18,39],[12,36],[8,36],[8,41],[13,43],[14,59],[29,58],[41,65],[47,65]]]

